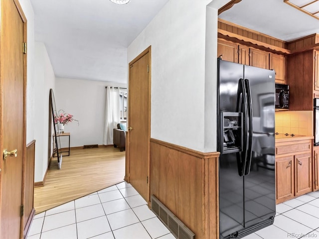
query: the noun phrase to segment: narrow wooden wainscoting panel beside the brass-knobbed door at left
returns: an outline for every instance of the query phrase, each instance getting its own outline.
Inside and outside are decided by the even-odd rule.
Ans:
[[[24,238],[29,231],[31,221],[35,210],[33,207],[33,191],[34,191],[34,158],[35,158],[35,140],[26,145],[25,154],[25,174],[24,174]]]

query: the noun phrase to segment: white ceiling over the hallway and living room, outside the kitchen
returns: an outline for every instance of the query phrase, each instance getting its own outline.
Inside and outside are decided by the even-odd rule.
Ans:
[[[127,83],[127,47],[168,0],[30,0],[56,77]]]

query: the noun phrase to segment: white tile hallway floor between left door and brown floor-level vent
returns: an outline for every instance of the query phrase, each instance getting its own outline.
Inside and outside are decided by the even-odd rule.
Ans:
[[[27,239],[174,239],[126,182],[35,215]]]

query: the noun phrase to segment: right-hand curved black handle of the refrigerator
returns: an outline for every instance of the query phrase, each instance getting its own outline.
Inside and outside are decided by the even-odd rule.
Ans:
[[[250,91],[250,85],[249,80],[245,79],[245,90],[247,93],[247,124],[248,124],[248,149],[247,149],[247,156],[246,156],[246,163],[245,163],[245,171],[244,175],[248,175],[250,173],[250,165],[251,165],[251,159],[252,159],[252,143],[253,143],[253,110],[252,110],[252,101],[251,101],[251,91]]]

